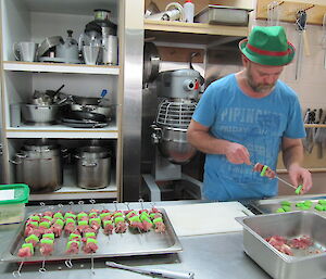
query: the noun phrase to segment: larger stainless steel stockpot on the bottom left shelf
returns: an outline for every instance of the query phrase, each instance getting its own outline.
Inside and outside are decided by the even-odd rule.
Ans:
[[[63,182],[60,145],[47,139],[27,141],[15,158],[16,181],[29,186],[32,193],[53,192]]]

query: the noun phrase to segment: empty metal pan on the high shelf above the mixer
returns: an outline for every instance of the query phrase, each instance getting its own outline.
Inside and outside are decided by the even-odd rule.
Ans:
[[[247,26],[252,9],[209,4],[193,18],[197,23]]]

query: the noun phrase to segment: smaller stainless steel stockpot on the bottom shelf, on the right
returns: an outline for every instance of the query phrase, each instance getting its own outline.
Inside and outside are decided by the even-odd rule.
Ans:
[[[111,179],[111,152],[104,147],[84,147],[77,154],[77,186],[95,190],[105,188]]]

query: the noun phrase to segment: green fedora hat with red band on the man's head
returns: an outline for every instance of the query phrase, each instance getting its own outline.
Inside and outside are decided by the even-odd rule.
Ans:
[[[239,42],[239,48],[250,61],[269,66],[289,64],[296,52],[283,26],[255,26],[249,39]]]

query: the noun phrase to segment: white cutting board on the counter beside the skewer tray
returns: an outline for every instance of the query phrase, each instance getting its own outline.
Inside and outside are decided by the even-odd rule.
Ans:
[[[178,237],[241,231],[235,217],[253,215],[239,202],[164,206]]]

